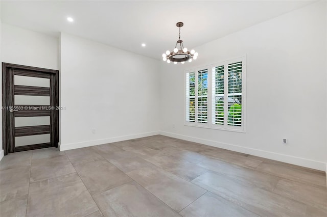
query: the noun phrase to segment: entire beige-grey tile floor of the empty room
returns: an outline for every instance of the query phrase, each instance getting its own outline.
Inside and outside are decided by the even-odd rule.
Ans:
[[[325,173],[162,135],[0,162],[0,216],[327,216]]]

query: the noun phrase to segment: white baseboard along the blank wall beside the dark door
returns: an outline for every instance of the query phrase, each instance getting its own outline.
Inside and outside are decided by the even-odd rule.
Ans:
[[[66,151],[76,148],[84,148],[88,146],[95,146],[95,145],[102,145],[106,143],[114,143],[114,142],[120,142],[124,140],[132,140],[142,137],[150,137],[151,135],[157,135],[159,134],[159,131],[153,131],[153,132],[145,132],[145,133],[139,133],[139,134],[132,134],[132,135],[124,135],[122,137],[112,137],[112,138],[106,138],[101,140],[91,140],[86,142],[79,142],[79,143],[69,143],[69,144],[60,144],[59,149],[60,151]]]

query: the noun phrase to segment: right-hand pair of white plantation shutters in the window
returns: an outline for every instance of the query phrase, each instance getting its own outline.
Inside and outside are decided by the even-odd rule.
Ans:
[[[244,58],[215,64],[212,69],[212,127],[244,130]]]

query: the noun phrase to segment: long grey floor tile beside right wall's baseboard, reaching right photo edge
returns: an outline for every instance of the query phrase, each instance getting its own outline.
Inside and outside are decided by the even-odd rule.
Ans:
[[[303,171],[295,168],[285,167],[281,164],[271,164],[263,162],[257,170],[269,173],[278,177],[298,181],[302,183],[308,183],[319,186],[326,186],[326,177],[317,173]]]

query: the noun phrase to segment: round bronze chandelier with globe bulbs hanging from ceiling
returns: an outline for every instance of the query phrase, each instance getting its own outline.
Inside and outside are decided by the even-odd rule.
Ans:
[[[184,23],[182,22],[176,23],[176,26],[179,28],[179,37],[174,50],[171,52],[167,50],[166,53],[162,53],[162,60],[167,61],[167,63],[174,62],[174,64],[184,64],[185,61],[192,62],[192,59],[196,60],[198,57],[198,53],[195,52],[195,50],[192,49],[189,51],[188,48],[184,47],[183,41],[180,40],[180,28],[183,25]]]

